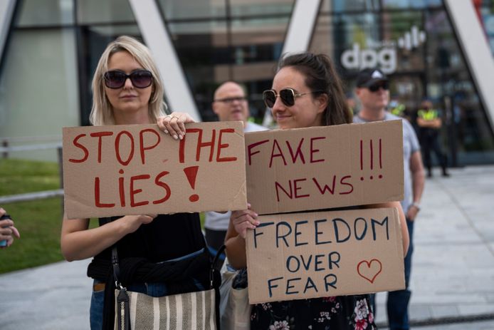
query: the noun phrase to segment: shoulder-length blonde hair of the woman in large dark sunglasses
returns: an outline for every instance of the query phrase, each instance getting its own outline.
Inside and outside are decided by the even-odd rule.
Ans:
[[[167,109],[167,105],[163,100],[164,86],[162,78],[154,63],[149,48],[130,36],[119,36],[116,38],[115,41],[108,44],[100,57],[100,61],[98,62],[98,66],[96,67],[93,76],[93,108],[91,108],[89,120],[95,126],[115,124],[112,105],[105,93],[103,75],[108,71],[110,56],[119,51],[127,51],[127,53],[130,53],[130,55],[135,58],[135,61],[137,61],[142,68],[151,71],[153,77],[152,93],[151,98],[149,98],[148,109],[149,118],[152,120],[152,123],[155,123],[157,118],[164,115],[164,111]]]

